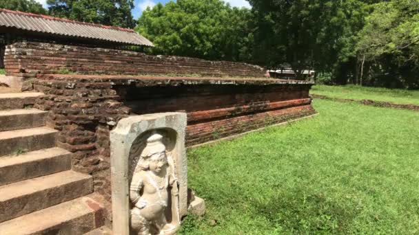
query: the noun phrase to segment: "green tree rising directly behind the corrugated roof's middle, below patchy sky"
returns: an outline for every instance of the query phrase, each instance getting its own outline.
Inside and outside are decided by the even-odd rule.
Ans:
[[[48,0],[53,16],[76,21],[133,28],[134,0]]]

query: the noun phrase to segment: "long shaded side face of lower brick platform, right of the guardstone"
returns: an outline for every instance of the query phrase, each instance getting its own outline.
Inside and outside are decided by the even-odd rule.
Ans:
[[[312,114],[311,85],[118,87],[132,113],[185,111],[188,146]]]

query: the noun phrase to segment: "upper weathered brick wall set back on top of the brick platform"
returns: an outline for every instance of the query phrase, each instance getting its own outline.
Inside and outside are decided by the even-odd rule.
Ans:
[[[202,76],[263,77],[262,67],[180,56],[150,56],[119,49],[103,49],[20,42],[8,45],[5,56],[10,76],[35,78],[39,74],[198,74]]]

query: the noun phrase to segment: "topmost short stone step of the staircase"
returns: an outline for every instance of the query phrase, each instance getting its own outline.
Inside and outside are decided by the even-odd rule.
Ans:
[[[24,109],[32,106],[35,100],[43,96],[43,93],[3,93],[0,94],[0,110],[5,109]]]

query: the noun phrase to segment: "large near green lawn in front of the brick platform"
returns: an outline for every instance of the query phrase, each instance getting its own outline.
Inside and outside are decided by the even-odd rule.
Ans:
[[[312,119],[190,150],[207,214],[180,234],[419,234],[419,112],[314,107]]]

